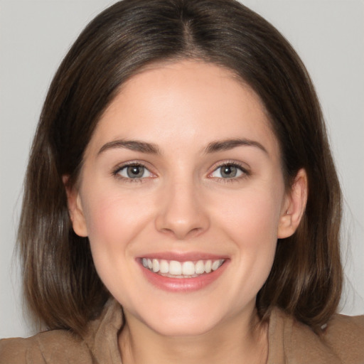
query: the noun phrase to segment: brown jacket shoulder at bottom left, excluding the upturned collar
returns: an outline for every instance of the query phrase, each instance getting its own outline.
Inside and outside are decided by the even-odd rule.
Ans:
[[[80,337],[65,330],[0,340],[0,364],[23,363],[88,364],[92,356]]]

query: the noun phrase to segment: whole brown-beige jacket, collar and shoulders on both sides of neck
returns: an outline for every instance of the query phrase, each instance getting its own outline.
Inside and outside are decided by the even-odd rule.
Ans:
[[[0,341],[0,364],[122,364],[117,333],[122,310],[107,302],[85,337],[65,330]],[[364,316],[336,315],[321,336],[274,309],[267,364],[364,364]]]

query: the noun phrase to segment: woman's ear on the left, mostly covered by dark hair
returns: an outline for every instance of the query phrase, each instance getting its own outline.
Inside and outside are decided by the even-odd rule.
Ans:
[[[86,237],[87,225],[85,215],[83,214],[80,193],[77,188],[70,187],[68,180],[70,176],[62,176],[63,185],[65,186],[65,192],[67,194],[68,211],[70,213],[70,219],[72,221],[73,230],[78,236]]]

